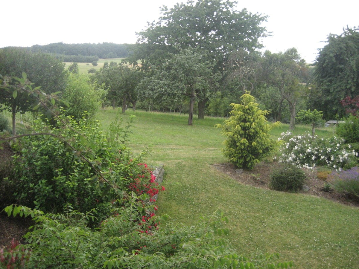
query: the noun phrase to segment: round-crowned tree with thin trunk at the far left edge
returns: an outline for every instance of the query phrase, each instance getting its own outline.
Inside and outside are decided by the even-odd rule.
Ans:
[[[22,77],[25,72],[26,79],[41,86],[41,90],[46,94],[64,90],[67,76],[64,67],[63,62],[48,53],[32,53],[14,47],[0,49],[0,75]],[[0,110],[7,109],[12,113],[14,135],[16,113],[31,110],[32,102],[31,95],[25,92],[14,98],[13,92],[1,90],[0,103],[5,107]]]

